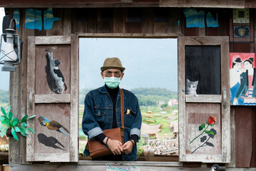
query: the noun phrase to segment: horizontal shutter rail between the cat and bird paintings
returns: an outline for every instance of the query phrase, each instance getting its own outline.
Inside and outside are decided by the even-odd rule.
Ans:
[[[36,94],[34,100],[34,103],[70,103],[70,94]]]

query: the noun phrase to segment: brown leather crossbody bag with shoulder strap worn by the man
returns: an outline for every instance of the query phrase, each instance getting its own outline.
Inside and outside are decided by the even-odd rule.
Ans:
[[[103,130],[103,133],[112,140],[119,140],[124,144],[124,92],[120,88],[120,95],[121,95],[121,121],[122,127],[120,128],[112,128],[109,130]],[[88,147],[90,152],[90,157],[97,158],[104,155],[110,155],[112,152],[109,148],[99,142],[97,140],[88,140]]]

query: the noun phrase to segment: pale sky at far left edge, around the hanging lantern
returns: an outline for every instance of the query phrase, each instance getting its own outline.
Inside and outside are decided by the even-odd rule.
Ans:
[[[0,8],[0,34],[3,33],[2,31],[2,23],[3,23],[3,17],[5,16],[4,14],[4,8]],[[2,43],[4,44],[4,43]],[[0,58],[2,57],[2,53],[0,53]],[[9,77],[10,77],[10,72],[8,71],[1,71],[1,67],[4,65],[0,65],[0,90],[9,90]]]

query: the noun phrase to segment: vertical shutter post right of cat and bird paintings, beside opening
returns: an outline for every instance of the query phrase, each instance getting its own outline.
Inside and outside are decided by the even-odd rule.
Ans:
[[[78,162],[78,137],[79,137],[79,61],[78,61],[78,36],[72,36],[71,46],[71,103],[70,103],[70,162]]]

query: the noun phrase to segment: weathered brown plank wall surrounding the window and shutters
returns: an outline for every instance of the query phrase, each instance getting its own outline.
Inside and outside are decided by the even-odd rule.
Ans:
[[[244,4],[243,4],[244,5]],[[13,14],[14,9],[6,9]],[[184,8],[109,8],[109,9],[54,9],[54,16],[61,18],[54,21],[52,29],[37,30],[24,28],[26,9],[20,9],[19,35],[23,41],[22,61],[16,72],[11,73],[11,105],[19,117],[26,115],[26,78],[27,78],[27,38],[28,36],[70,36],[84,33],[108,33],[119,36],[230,36],[230,52],[255,53],[255,39],[235,42],[232,38],[232,9],[200,9],[200,11],[218,14],[217,28],[187,28]],[[255,36],[256,12],[250,9]],[[178,23],[179,21],[179,23]],[[93,34],[90,34],[94,36]],[[97,34],[95,34],[97,35]],[[99,34],[98,34],[99,35]],[[16,83],[19,84],[16,84]],[[232,162],[236,167],[256,167],[256,115],[254,107],[236,106],[231,108],[232,125]],[[10,163],[26,163],[26,138],[19,142],[10,140]],[[246,150],[244,150],[246,148]]]

